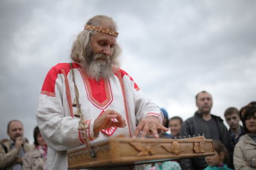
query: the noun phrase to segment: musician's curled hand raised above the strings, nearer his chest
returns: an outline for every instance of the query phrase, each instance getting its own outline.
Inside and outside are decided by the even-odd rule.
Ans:
[[[117,121],[112,121],[112,118],[116,118]],[[95,119],[93,125],[93,132],[99,133],[102,129],[107,129],[109,127],[125,127],[125,119],[114,110],[106,110],[98,118]]]

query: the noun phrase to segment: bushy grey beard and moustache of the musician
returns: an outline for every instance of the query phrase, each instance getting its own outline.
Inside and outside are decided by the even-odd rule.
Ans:
[[[84,66],[87,75],[90,78],[99,81],[100,78],[108,80],[113,75],[113,69],[111,66],[111,60],[109,56],[102,53],[91,55],[90,61]]]

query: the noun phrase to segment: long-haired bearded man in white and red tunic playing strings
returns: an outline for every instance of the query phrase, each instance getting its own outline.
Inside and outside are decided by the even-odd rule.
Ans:
[[[162,125],[160,109],[119,68],[117,36],[111,17],[92,17],[73,43],[71,66],[59,63],[49,70],[37,114],[48,145],[47,170],[67,169],[67,150],[86,140],[77,130],[79,118],[74,117],[76,86],[90,141],[121,134],[136,137],[141,131],[142,137],[151,131],[158,138],[157,130],[168,130]]]

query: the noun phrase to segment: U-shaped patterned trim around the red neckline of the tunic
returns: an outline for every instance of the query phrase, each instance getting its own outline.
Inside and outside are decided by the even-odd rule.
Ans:
[[[82,69],[79,69],[79,72],[82,75],[82,78],[83,78],[83,81],[84,81],[84,86],[85,86],[85,89],[86,89],[86,94],[87,94],[88,100],[95,107],[97,107],[99,109],[106,109],[113,101],[113,93],[112,93],[110,81],[109,80],[104,81],[106,99],[105,99],[105,101],[103,101],[101,103],[95,97],[93,97],[93,92],[92,92],[92,88],[91,88],[91,85],[90,85],[90,80],[89,80],[86,72]]]

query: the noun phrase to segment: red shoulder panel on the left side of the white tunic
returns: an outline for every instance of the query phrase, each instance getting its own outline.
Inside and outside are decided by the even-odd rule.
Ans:
[[[76,69],[80,67],[79,64],[73,63],[73,68]],[[57,65],[53,66],[49,72],[47,73],[44,84],[42,87],[41,94],[49,95],[49,96],[55,96],[55,82],[57,79],[58,74],[62,74],[62,70],[64,70],[65,74],[67,75],[70,71],[70,65],[69,63],[58,63]]]

